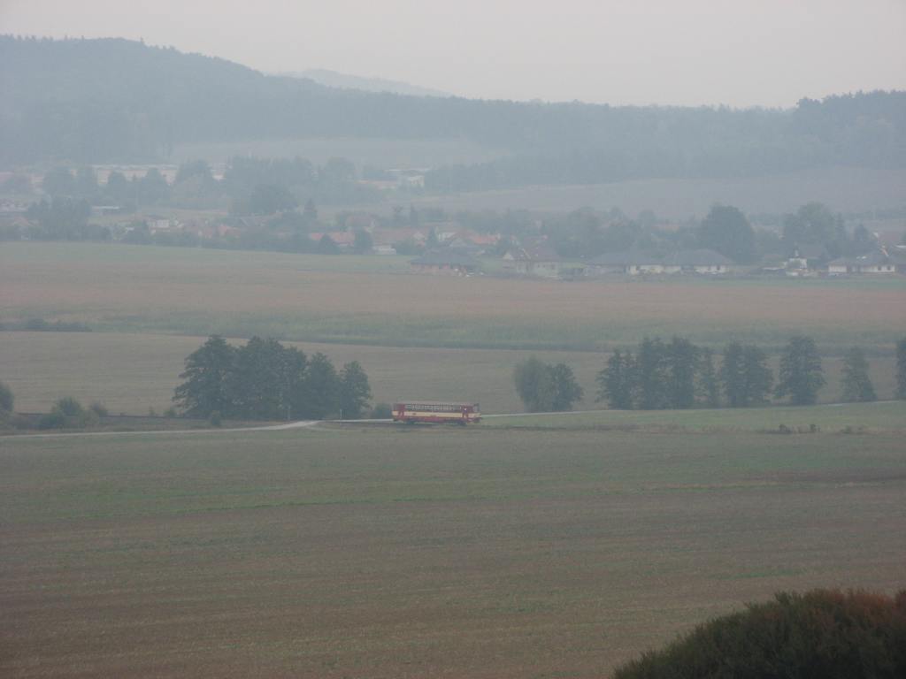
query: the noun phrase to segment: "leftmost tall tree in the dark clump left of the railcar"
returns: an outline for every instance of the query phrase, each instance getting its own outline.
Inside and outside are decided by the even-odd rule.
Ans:
[[[230,347],[225,339],[212,335],[188,355],[185,370],[179,375],[185,381],[176,387],[173,396],[173,401],[185,415],[226,415],[229,409],[227,381],[235,354],[236,349]]]

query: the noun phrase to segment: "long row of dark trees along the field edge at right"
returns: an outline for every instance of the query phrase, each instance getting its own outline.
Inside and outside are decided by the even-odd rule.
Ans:
[[[821,355],[810,337],[789,340],[780,358],[776,382],[767,354],[752,344],[731,342],[715,367],[711,349],[689,339],[646,338],[633,354],[616,350],[597,376],[597,400],[622,410],[660,408],[748,407],[789,397],[795,406],[814,404],[824,387]],[[843,359],[843,395],[848,402],[873,401],[868,361],[853,347]]]

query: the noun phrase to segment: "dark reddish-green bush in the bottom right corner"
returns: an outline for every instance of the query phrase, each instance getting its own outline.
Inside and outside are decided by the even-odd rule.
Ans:
[[[906,676],[906,590],[895,598],[815,589],[719,617],[614,679],[894,679]]]

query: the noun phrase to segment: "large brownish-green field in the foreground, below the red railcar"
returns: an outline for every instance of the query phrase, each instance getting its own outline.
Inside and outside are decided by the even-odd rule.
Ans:
[[[780,589],[902,588],[904,496],[893,433],[6,437],[0,674],[600,677]]]

